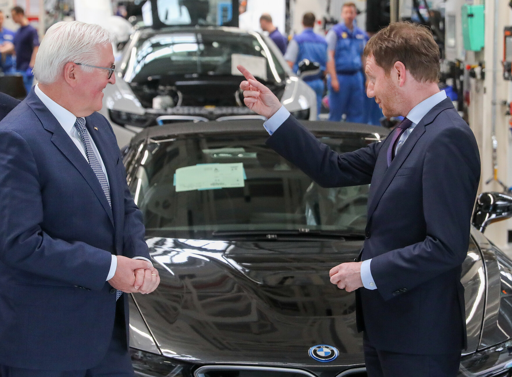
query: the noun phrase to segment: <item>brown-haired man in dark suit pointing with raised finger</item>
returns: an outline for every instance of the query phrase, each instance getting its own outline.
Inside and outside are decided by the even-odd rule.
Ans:
[[[381,143],[338,154],[243,67],[244,102],[268,118],[267,144],[322,187],[370,184],[365,243],[330,271],[356,291],[369,377],[455,377],[466,347],[461,265],[480,180],[475,136],[437,87],[430,31],[395,23],[365,48],[368,96],[404,120]]]

